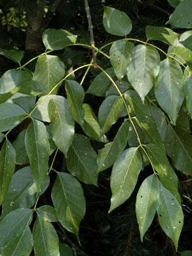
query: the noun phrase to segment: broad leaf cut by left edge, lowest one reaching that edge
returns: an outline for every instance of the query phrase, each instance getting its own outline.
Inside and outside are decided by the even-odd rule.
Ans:
[[[0,251],[11,240],[20,236],[26,226],[31,223],[33,211],[20,208],[8,213],[0,222]]]

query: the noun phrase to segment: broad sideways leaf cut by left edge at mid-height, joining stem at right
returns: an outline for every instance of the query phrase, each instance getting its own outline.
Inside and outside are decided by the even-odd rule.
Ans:
[[[28,114],[13,103],[0,104],[0,131],[8,131],[16,127]]]

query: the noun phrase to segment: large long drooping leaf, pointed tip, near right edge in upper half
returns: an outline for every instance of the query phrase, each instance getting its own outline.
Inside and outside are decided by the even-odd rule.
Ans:
[[[161,108],[176,123],[185,95],[182,68],[175,60],[166,58],[161,62],[155,96]]]

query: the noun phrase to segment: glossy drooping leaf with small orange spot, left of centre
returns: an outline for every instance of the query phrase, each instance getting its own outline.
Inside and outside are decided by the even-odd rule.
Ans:
[[[74,120],[69,111],[69,104],[63,96],[52,95],[48,103],[49,125],[52,140],[66,155],[74,135]]]

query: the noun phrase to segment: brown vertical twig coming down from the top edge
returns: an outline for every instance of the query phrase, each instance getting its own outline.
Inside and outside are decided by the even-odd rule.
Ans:
[[[92,47],[92,58],[94,60],[93,67],[97,68],[98,64],[96,62],[96,56],[95,56],[95,45],[94,45],[94,34],[93,34],[93,26],[92,26],[92,21],[91,21],[91,16],[90,16],[90,9],[88,6],[88,0],[85,0],[85,10],[86,10],[86,18],[88,20],[88,30],[90,32],[90,45]]]

